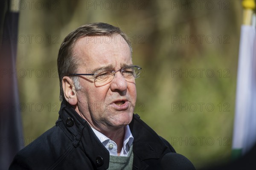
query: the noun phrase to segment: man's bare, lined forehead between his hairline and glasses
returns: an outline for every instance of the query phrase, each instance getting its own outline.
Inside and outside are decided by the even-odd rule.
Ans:
[[[81,68],[96,69],[108,65],[119,68],[132,64],[131,49],[119,34],[80,38],[73,48],[73,54],[81,61]]]

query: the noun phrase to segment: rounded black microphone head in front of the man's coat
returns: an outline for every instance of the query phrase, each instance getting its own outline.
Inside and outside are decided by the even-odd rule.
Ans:
[[[179,153],[166,153],[160,164],[163,170],[195,170],[192,162]]]

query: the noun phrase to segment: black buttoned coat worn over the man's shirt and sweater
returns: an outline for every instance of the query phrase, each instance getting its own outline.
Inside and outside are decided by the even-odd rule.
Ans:
[[[160,160],[173,147],[135,114],[129,125],[134,136],[133,170],[161,170]],[[61,104],[56,125],[20,150],[9,170],[106,170],[109,152],[86,120]]]

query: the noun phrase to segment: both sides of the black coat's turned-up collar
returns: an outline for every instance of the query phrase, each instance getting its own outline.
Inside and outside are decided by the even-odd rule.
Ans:
[[[61,103],[59,120],[56,125],[60,125],[60,122],[64,123],[61,127],[70,140],[73,141],[74,147],[81,148],[98,170],[108,168],[108,150],[93,133],[88,122],[82,119],[67,102]],[[166,145],[157,133],[140,119],[139,115],[134,114],[129,127],[134,136],[134,167],[143,169],[142,167],[147,167],[143,160],[160,159],[163,156],[164,151],[167,149]],[[103,163],[97,161],[99,159],[102,159]]]

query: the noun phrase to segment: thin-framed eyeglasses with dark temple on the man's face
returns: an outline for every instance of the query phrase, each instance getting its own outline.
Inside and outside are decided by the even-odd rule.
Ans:
[[[120,71],[122,77],[125,78],[126,81],[133,81],[134,79],[140,77],[142,68],[138,65],[131,65],[119,70],[115,69],[101,69],[95,71],[93,74],[69,74],[69,76],[93,76],[94,83],[96,86],[106,85],[111,82],[116,74],[116,72]]]

